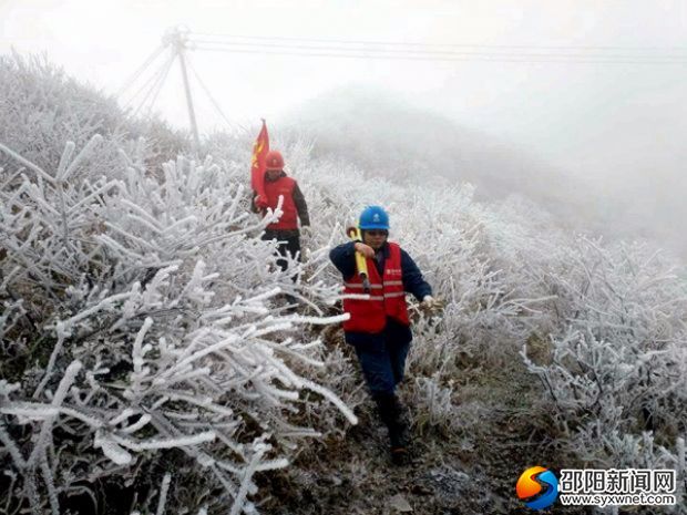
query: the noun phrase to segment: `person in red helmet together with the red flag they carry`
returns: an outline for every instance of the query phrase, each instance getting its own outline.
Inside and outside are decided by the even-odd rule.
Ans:
[[[253,186],[254,213],[263,216],[267,209],[276,209],[281,200],[281,216],[277,222],[273,222],[265,229],[263,239],[278,241],[278,253],[281,259],[277,259],[277,265],[281,270],[288,267],[287,253],[291,258],[300,255],[300,227],[310,227],[308,205],[305,196],[298,187],[298,183],[284,172],[284,157],[278,151],[269,150],[269,136],[267,125],[263,120],[263,128],[253,147],[253,163],[250,169],[250,183]],[[294,278],[295,279],[295,278]]]

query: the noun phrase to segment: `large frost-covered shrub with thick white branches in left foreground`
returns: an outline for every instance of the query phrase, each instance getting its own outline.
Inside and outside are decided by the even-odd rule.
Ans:
[[[277,298],[290,292],[321,313],[336,288],[304,282],[296,261],[276,266],[259,235],[278,212],[249,214],[243,186],[209,158],[180,157],[158,176],[123,153],[122,179],[74,179],[101,141],[81,152],[68,143],[48,169],[2,146],[25,167],[1,190],[8,502],[59,513],[119,481],[164,492],[203,475],[202,492],[249,513],[254,474],[286,466],[318,434],[294,423],[304,399],[356,420],[309,379],[337,357],[294,331],[338,319],[285,315]],[[162,477],[153,471],[165,461],[175,466]],[[194,498],[176,506],[197,509]]]

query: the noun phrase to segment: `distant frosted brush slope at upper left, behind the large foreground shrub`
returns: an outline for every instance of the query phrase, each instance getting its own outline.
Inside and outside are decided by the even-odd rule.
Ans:
[[[88,154],[73,177],[120,177],[125,171],[120,148],[140,155],[152,172],[188,148],[184,134],[155,117],[129,116],[114,97],[80,84],[45,58],[0,55],[0,143],[42,168],[59,162],[68,142],[83,148],[95,134],[103,136],[99,152]],[[0,167],[9,172],[10,164],[0,153]]]

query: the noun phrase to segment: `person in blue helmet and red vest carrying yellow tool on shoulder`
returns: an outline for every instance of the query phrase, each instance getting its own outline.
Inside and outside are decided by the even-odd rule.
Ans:
[[[406,291],[423,308],[435,301],[432,288],[412,258],[389,237],[389,215],[379,206],[369,206],[360,215],[361,240],[335,247],[329,253],[344,276],[345,293],[365,293],[356,270],[356,253],[367,259],[370,290],[368,298],[344,300],[350,319],[344,322],[346,341],[353,346],[367,385],[380,418],[389,430],[391,459],[408,462],[408,428],[396,387],[403,379],[412,333],[406,305]]]

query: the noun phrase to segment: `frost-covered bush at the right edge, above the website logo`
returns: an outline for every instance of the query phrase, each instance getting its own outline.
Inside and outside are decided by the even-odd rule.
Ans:
[[[687,432],[687,287],[642,245],[580,238],[551,270],[550,350],[522,354],[565,444],[588,463],[648,466],[655,442]]]

